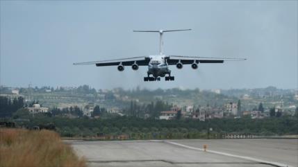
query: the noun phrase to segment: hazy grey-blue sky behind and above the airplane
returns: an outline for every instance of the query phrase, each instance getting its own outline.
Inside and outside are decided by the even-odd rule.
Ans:
[[[297,88],[297,1],[0,1],[0,85],[90,85],[97,89]],[[73,62],[158,54],[247,58],[170,67],[174,82],[144,82],[147,67]]]

